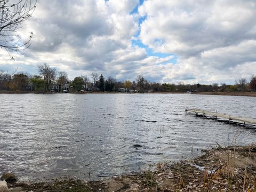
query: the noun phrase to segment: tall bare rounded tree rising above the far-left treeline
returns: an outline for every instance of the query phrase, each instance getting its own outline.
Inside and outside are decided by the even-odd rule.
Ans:
[[[50,91],[52,82],[54,81],[57,71],[55,68],[51,68],[49,65],[44,63],[43,65],[38,65],[38,71],[40,75],[43,75],[45,81],[45,90]]]

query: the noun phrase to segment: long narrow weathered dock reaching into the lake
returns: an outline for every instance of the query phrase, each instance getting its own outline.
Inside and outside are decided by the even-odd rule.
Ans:
[[[251,123],[251,124],[256,124],[256,119],[253,118],[246,118],[246,117],[236,117],[236,116],[231,116],[231,115],[227,115],[227,114],[221,114],[221,113],[217,113],[217,112],[211,112],[211,111],[206,111],[206,110],[202,110],[202,109],[185,109],[186,114],[187,111],[190,112],[194,112],[196,114],[202,114],[203,116],[205,115],[210,115],[215,117],[216,119],[219,118],[225,118],[228,119],[229,121],[234,120],[234,121],[238,121],[238,122],[243,122],[245,123]]]

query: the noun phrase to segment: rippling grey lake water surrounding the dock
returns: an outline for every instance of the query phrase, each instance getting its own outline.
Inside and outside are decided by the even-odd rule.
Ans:
[[[255,142],[256,129],[185,107],[256,117],[256,98],[194,94],[0,94],[0,173],[96,180]]]

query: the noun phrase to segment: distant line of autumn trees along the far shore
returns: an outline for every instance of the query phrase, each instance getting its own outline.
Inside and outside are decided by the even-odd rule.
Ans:
[[[255,92],[256,76],[247,81],[241,78],[234,85],[225,83],[178,84],[149,82],[139,75],[135,81],[117,81],[114,77],[105,78],[102,74],[92,73],[88,76],[78,76],[70,81],[65,71],[57,71],[44,63],[38,65],[38,75],[31,76],[26,72],[8,73],[0,69],[0,91],[2,92]]]

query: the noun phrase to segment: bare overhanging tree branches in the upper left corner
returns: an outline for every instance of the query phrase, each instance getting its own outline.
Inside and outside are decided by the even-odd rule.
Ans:
[[[33,33],[31,32],[28,40],[23,42],[17,35],[17,29],[21,28],[21,24],[31,17],[36,8],[36,2],[37,0],[35,3],[32,0],[0,1],[0,47],[5,48],[7,52],[29,47]]]

